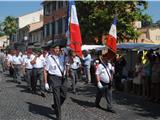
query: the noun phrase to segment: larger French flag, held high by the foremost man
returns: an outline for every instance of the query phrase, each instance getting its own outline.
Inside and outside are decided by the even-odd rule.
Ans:
[[[82,57],[82,38],[75,2],[73,0],[69,0],[68,5],[68,30],[66,32],[68,36],[67,45],[71,50],[75,51],[79,57]]]

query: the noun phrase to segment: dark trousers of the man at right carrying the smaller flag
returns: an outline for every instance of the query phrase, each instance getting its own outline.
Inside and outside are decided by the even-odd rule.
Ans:
[[[107,101],[107,109],[111,110],[112,109],[112,88],[106,83],[102,83],[102,85],[104,86],[102,89],[97,88],[98,92],[96,94],[95,104],[99,105],[102,96],[105,95],[105,98]]]

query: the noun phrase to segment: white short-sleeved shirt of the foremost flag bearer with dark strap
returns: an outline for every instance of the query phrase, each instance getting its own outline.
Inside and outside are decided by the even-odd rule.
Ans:
[[[61,71],[64,71],[64,56],[55,56],[55,55],[49,55],[47,57],[47,63],[45,66],[45,70],[48,71],[49,74],[51,75],[56,75],[56,76],[60,76],[62,77],[62,73],[58,67],[58,65],[56,64],[56,62],[54,61],[54,59],[52,58],[54,57],[54,59],[56,60],[57,64],[59,65]]]

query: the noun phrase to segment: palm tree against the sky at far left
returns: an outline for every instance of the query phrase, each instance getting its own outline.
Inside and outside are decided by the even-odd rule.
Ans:
[[[3,25],[4,25],[3,28],[4,33],[8,35],[9,39],[11,40],[11,36],[16,33],[18,28],[16,18],[12,16],[6,17],[3,22]]]

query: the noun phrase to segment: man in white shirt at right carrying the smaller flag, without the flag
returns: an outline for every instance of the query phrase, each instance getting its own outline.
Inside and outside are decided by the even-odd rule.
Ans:
[[[112,89],[111,83],[113,79],[114,67],[108,62],[108,59],[104,56],[101,59],[101,63],[96,69],[97,87],[98,92],[96,94],[95,105],[101,108],[99,103],[103,95],[105,95],[107,101],[107,111],[115,113],[112,109]]]

